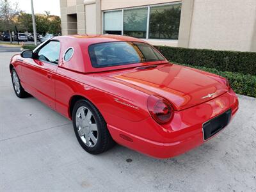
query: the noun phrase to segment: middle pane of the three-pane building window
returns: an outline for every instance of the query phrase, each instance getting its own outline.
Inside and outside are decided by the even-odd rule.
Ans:
[[[148,8],[124,10],[124,35],[147,37]]]

